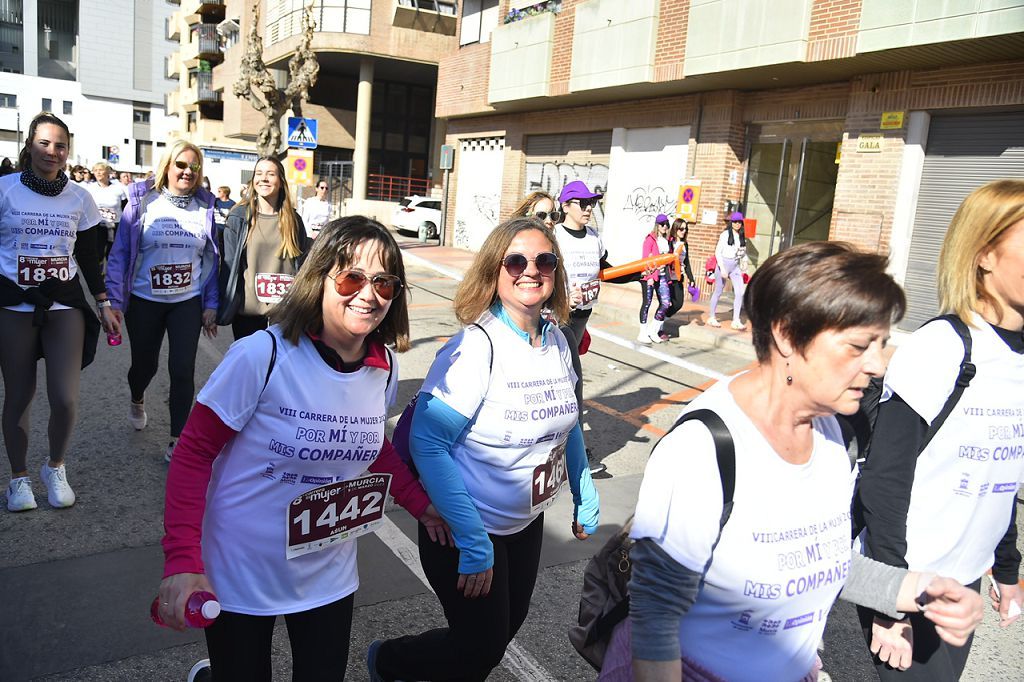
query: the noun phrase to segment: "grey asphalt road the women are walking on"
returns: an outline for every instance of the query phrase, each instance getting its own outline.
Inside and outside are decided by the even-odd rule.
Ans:
[[[459,325],[452,309],[455,282],[421,266],[409,267],[414,347],[400,357],[399,408],[419,388],[434,352]],[[731,374],[750,357],[674,339],[656,353],[616,343],[631,338],[620,323],[592,322],[596,335],[584,356],[588,444],[608,466],[597,479],[602,525],[591,540],[569,536],[569,497],[546,514],[542,571],[530,616],[493,680],[593,680],[596,675],[565,637],[575,616],[586,560],[631,513],[644,463],[656,438],[686,401],[706,388],[710,374]],[[628,328],[632,329],[632,328]],[[201,341],[197,389],[229,344],[229,330]],[[205,657],[201,633],[178,634],[148,620],[160,581],[163,491],[168,436],[166,350],[147,393],[150,426],[127,422],[128,345],[103,346],[82,376],[79,426],[68,459],[78,504],[53,510],[34,476],[39,509],[0,509],[0,680],[183,680]],[[678,361],[666,361],[666,356]],[[40,366],[41,368],[41,366]],[[689,368],[689,369],[687,369]],[[30,471],[45,458],[45,381],[40,369],[33,413]],[[1022,514],[1024,516],[1024,514]],[[417,576],[415,527],[401,509],[377,536],[360,539],[359,574],[347,679],[366,680],[365,652],[377,638],[442,624],[433,595]],[[1024,532],[1021,534],[1024,538]],[[274,639],[278,679],[290,678],[283,624]],[[737,652],[741,655],[741,652]],[[873,680],[852,609],[839,604],[829,619],[822,653],[831,679]],[[1024,636],[1018,626],[999,631],[991,614],[979,631],[969,680],[1021,680]],[[769,676],[770,677],[770,676]]]

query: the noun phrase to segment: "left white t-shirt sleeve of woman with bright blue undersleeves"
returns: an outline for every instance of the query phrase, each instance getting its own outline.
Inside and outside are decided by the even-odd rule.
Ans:
[[[480,330],[462,330],[437,351],[420,392],[472,419],[487,392],[490,353],[490,343]]]

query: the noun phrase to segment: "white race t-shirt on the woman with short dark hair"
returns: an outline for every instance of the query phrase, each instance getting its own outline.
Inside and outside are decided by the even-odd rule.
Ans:
[[[814,419],[814,450],[783,461],[722,381],[686,412],[714,411],[736,451],[732,515],[712,556],[722,485],[711,433],[687,422],[654,449],[632,537],[650,538],[702,571],[679,629],[682,655],[730,682],[798,680],[810,672],[825,617],[850,569],[853,474],[839,424]]]

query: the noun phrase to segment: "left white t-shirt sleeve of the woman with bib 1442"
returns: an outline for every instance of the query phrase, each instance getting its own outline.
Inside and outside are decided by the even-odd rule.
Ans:
[[[278,363],[284,343],[278,339]],[[213,410],[232,430],[241,431],[263,393],[272,347],[270,337],[262,332],[232,343],[196,400]]]

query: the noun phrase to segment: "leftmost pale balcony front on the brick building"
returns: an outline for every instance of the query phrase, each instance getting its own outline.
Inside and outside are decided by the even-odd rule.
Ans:
[[[555,15],[545,12],[500,26],[490,34],[490,103],[545,97],[551,85]]]

